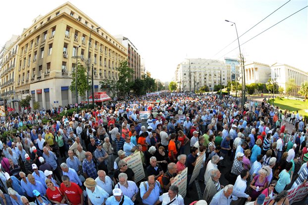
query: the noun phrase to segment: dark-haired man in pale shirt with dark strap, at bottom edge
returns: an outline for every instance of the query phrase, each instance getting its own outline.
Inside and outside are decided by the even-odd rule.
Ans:
[[[177,186],[170,186],[168,193],[162,194],[155,205],[162,203],[163,205],[184,205],[184,199],[179,195],[179,188]]]

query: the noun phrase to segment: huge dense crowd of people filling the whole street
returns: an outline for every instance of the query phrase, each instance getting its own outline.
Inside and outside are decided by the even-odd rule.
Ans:
[[[243,105],[161,92],[11,113],[0,126],[0,204],[289,205],[288,190],[308,180],[307,119],[266,99]],[[136,153],[141,180],[128,163]]]

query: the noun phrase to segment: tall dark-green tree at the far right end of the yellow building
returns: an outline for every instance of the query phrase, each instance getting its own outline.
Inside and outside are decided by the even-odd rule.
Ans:
[[[134,70],[128,67],[127,61],[120,62],[119,67],[116,69],[119,71],[119,80],[116,82],[117,89],[121,95],[126,95],[130,92],[133,84],[132,77]]]

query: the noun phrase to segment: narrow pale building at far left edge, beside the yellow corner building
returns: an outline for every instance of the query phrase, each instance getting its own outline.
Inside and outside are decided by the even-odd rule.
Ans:
[[[0,96],[7,100],[7,106],[19,111],[15,96],[14,72],[17,64],[20,36],[12,35],[0,51]]]

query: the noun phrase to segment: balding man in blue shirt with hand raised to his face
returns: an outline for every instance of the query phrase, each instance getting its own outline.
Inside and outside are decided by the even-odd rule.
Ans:
[[[147,182],[140,184],[140,197],[144,205],[154,205],[161,193],[160,184],[153,175],[148,177]]]

